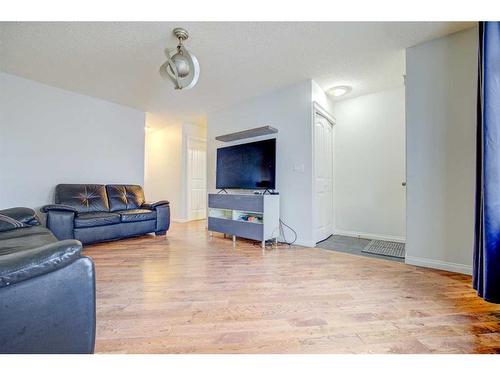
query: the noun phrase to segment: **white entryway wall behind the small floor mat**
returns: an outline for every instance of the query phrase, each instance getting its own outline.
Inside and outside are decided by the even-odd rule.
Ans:
[[[404,87],[335,103],[335,233],[405,240]]]

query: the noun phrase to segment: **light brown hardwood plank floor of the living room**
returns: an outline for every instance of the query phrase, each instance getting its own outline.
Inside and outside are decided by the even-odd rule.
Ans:
[[[500,353],[470,277],[311,248],[168,236],[87,246],[98,353]]]

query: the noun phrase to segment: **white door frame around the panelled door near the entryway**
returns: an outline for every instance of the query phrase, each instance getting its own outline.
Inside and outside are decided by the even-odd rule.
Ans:
[[[312,114],[311,114],[311,127],[312,127],[312,139],[311,139],[311,144],[312,144],[312,196],[311,196],[311,207],[312,207],[312,236],[313,236],[313,241],[314,245],[316,246],[317,243],[317,236],[316,236],[316,214],[318,211],[318,208],[316,207],[316,158],[315,158],[315,152],[316,152],[316,128],[315,128],[315,120],[316,116],[321,116],[324,119],[326,119],[332,126],[332,149],[335,150],[335,124],[336,120],[333,115],[328,112],[321,104],[319,104],[316,101],[313,101],[313,106],[312,106]],[[335,159],[332,154],[332,233],[335,233]]]

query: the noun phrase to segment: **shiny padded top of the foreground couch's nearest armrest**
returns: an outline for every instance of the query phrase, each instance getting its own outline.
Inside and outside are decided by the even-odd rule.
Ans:
[[[0,257],[0,288],[65,267],[80,257],[76,240],[54,242]]]

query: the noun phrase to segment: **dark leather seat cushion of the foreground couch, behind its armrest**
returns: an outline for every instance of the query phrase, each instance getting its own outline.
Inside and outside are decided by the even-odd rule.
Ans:
[[[24,227],[0,232],[0,257],[57,242],[50,230],[42,226]]]

